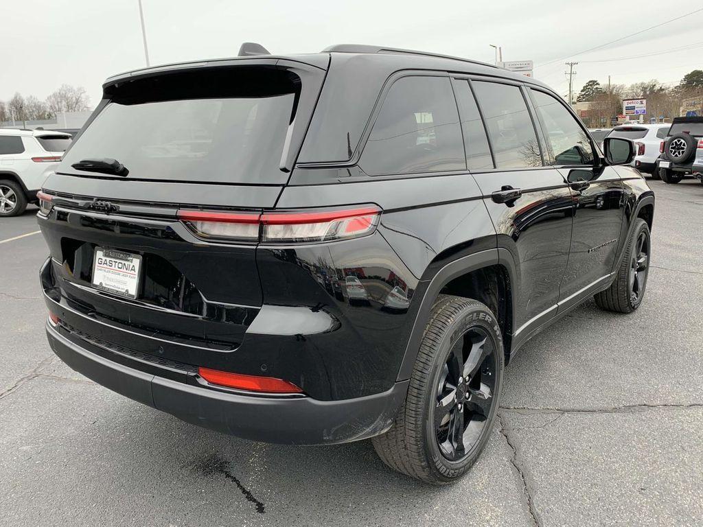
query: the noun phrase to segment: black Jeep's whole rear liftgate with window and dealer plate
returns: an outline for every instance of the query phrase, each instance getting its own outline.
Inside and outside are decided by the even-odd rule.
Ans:
[[[51,213],[39,214],[51,249],[42,283],[72,329],[165,360],[226,364],[262,304],[256,243],[202,240],[177,214],[273,207],[324,73],[232,60],[104,86],[44,183]],[[115,265],[122,291],[103,284]]]

